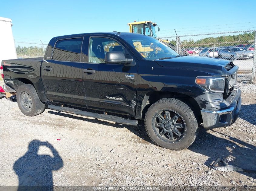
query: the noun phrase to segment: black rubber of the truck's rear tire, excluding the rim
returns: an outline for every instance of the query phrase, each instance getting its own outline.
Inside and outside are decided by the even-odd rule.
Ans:
[[[27,92],[32,100],[32,108],[31,110],[27,111],[22,107],[22,103],[20,101],[20,96],[22,94],[22,92]],[[41,100],[38,97],[38,94],[34,88],[34,86],[32,86],[31,84],[24,84],[18,87],[17,89],[17,103],[18,106],[21,110],[21,112],[26,115],[26,116],[35,116],[38,115],[40,113],[43,113],[45,110],[45,104],[41,102]]]

